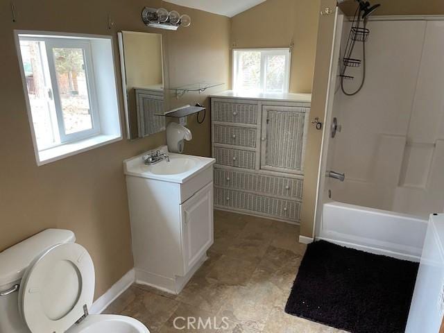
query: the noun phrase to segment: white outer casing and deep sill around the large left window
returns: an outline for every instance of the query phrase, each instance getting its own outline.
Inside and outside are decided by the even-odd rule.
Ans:
[[[24,92],[24,101],[26,103],[26,112],[28,123],[31,130],[31,139],[33,142],[35,162],[37,167],[51,162],[62,160],[66,157],[77,155],[94,148],[99,148],[123,139],[121,124],[121,96],[117,87],[119,86],[119,76],[117,74],[117,60],[115,57],[114,36],[112,35],[94,35],[85,33],[66,33],[58,31],[32,31],[14,29],[15,51],[19,62],[19,71],[22,76],[22,87]],[[33,114],[31,103],[28,96],[28,87],[26,85],[26,74],[24,71],[24,62],[20,48],[20,37],[31,37],[35,40],[37,37],[68,39],[68,40],[86,40],[91,44],[92,59],[94,61],[96,72],[94,72],[94,83],[96,87],[96,102],[100,123],[100,131],[96,135],[72,139],[69,142],[57,142],[56,144],[44,147],[37,145],[37,137],[33,123]],[[43,48],[46,52],[46,47]],[[54,123],[56,121],[53,121]],[[58,124],[56,124],[58,131]],[[56,138],[60,139],[60,137]]]

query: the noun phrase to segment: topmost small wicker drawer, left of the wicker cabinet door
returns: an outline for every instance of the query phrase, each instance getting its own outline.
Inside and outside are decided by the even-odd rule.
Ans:
[[[213,121],[257,124],[257,104],[214,101]]]

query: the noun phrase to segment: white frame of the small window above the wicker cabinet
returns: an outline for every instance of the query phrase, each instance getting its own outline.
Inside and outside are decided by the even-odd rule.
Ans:
[[[291,48],[267,48],[267,49],[232,49],[232,87],[234,91],[242,92],[237,86],[237,76],[239,75],[239,56],[241,52],[260,52],[261,53],[261,73],[260,73],[260,89],[262,94],[287,94],[290,88],[290,69],[291,69]],[[285,56],[284,69],[284,87],[282,92],[267,92],[266,91],[266,58],[269,56]]]

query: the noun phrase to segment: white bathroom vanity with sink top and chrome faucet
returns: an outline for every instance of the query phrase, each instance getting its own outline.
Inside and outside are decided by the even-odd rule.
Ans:
[[[179,293],[207,259],[213,238],[214,159],[168,153],[123,162],[136,282]]]

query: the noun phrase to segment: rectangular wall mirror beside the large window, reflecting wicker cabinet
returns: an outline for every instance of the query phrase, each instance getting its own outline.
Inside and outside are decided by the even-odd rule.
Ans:
[[[165,130],[162,35],[122,31],[119,35],[128,139]]]

